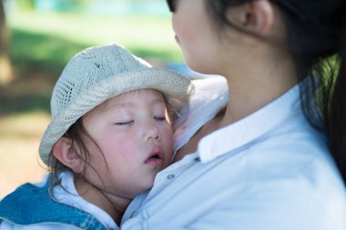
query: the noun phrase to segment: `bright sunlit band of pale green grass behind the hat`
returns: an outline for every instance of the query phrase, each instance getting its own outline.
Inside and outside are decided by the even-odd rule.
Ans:
[[[169,16],[87,16],[20,12],[8,15],[11,28],[54,35],[86,45],[118,43],[132,50],[146,49],[164,60],[181,61]]]

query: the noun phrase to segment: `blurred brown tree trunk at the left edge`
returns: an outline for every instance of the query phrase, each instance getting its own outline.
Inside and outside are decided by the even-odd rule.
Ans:
[[[0,0],[0,85],[7,85],[13,80],[13,70],[9,58],[9,32],[5,24],[4,3]]]

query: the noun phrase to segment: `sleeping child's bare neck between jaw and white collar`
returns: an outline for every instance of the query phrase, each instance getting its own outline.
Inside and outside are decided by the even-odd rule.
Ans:
[[[121,218],[131,202],[131,199],[107,194],[107,192],[91,185],[83,178],[75,178],[75,186],[78,194],[87,202],[103,209],[113,218],[117,225],[120,225]]]

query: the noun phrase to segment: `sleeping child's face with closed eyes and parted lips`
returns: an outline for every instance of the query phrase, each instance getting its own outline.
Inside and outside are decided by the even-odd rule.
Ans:
[[[86,179],[111,195],[134,197],[150,188],[170,162],[172,125],[155,90],[117,95],[86,114],[83,124],[97,144],[86,139]]]

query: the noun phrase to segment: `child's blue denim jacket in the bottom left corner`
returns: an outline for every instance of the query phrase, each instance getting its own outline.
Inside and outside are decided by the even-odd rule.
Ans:
[[[79,229],[106,229],[96,217],[70,205],[56,202],[48,194],[48,185],[25,184],[0,202],[0,225],[71,225]]]

